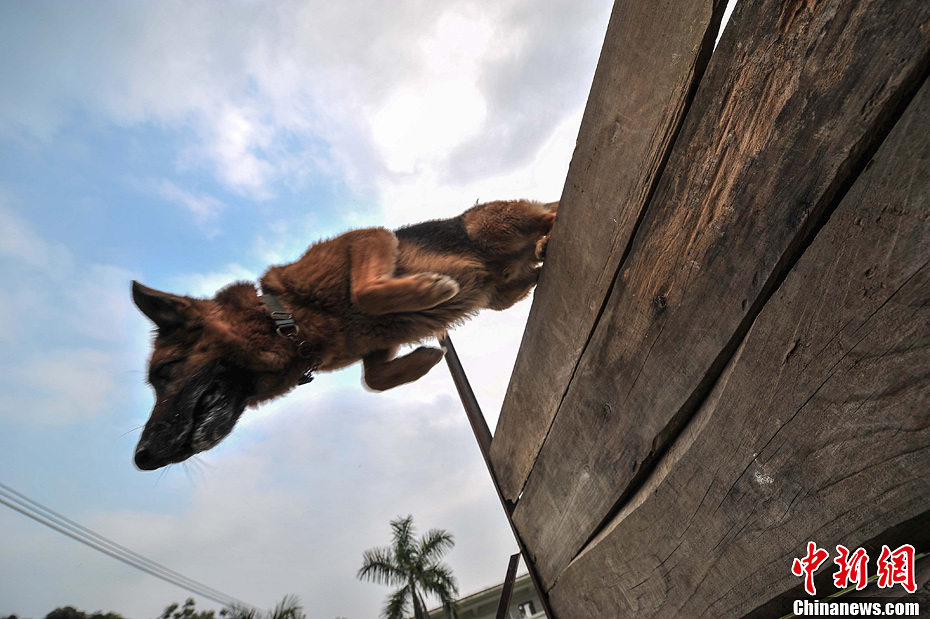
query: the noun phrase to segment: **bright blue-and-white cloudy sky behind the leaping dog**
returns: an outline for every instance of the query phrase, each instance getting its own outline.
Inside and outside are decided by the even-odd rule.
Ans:
[[[135,470],[129,282],[211,295],[352,227],[558,199],[610,5],[0,4],[0,483],[261,608],[376,616],[355,573],[407,514],[455,535],[463,593],[500,581],[516,546],[443,366],[319,376],[201,463]],[[528,309],[453,334],[492,428]],[[2,506],[0,530],[0,616],[188,595]]]

